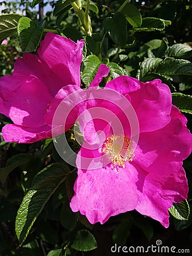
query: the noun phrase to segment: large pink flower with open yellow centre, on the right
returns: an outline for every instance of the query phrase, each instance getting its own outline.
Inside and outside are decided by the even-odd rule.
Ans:
[[[105,75],[106,67],[99,73],[103,68]],[[168,86],[158,79],[143,83],[120,76],[104,89],[97,88],[96,80],[84,91],[66,86],[55,98],[58,113],[76,105],[66,119],[79,116],[84,133],[70,207],[85,214],[91,224],[136,209],[167,228],[168,208],[187,198],[182,168],[191,152],[187,119],[172,105]]]

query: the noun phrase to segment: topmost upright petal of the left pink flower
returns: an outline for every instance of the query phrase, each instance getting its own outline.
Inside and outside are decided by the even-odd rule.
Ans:
[[[84,40],[77,41],[76,44],[71,39],[48,32],[40,43],[38,55],[60,78],[63,86],[68,84],[80,86],[83,46]]]

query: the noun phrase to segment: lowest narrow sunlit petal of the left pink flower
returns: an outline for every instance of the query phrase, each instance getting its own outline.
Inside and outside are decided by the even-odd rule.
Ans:
[[[6,142],[33,143],[52,138],[52,131],[48,125],[29,128],[10,124],[3,127],[2,135]]]

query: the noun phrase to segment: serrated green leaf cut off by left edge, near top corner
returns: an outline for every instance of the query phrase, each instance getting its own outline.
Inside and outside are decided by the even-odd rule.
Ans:
[[[19,14],[6,14],[0,15],[0,40],[1,42],[16,32],[16,27],[22,15]]]

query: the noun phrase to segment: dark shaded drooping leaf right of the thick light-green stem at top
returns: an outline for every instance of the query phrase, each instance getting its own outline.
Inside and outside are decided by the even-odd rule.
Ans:
[[[103,26],[118,46],[124,46],[127,43],[127,20],[122,13],[115,13],[112,18],[103,20]]]

